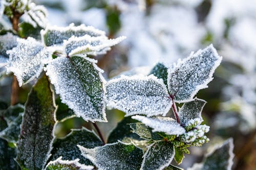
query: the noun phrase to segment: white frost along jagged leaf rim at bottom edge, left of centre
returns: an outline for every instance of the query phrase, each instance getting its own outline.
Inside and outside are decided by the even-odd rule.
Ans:
[[[54,161],[50,161],[47,166],[46,166],[46,169],[48,166],[50,165],[67,165],[67,166],[72,166],[73,168],[76,168],[76,169],[79,169],[79,170],[91,170],[93,169],[93,166],[91,165],[84,165],[84,164],[81,164],[78,162],[79,159],[75,159],[75,160],[62,160],[62,156],[60,156],[58,159],[54,160]],[[63,168],[63,167],[62,167]]]

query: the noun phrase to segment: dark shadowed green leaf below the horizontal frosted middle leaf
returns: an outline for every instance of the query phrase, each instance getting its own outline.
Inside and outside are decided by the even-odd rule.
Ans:
[[[126,138],[132,138],[140,140],[140,137],[133,133],[129,124],[138,123],[138,120],[132,119],[131,116],[124,117],[121,122],[117,124],[117,127],[110,133],[108,138],[108,143],[114,143],[118,140]]]

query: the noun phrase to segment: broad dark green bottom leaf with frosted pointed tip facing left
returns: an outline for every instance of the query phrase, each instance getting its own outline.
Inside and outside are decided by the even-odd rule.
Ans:
[[[120,141],[105,144],[103,147],[87,149],[78,145],[82,156],[93,162],[98,169],[104,170],[135,170],[139,169],[143,152],[133,144]]]

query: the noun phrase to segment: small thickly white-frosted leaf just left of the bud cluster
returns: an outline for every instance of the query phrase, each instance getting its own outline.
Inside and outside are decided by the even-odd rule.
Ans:
[[[164,132],[168,135],[181,135],[185,133],[185,129],[180,126],[173,118],[170,117],[145,117],[140,115],[132,116],[148,127],[151,127],[153,132]]]

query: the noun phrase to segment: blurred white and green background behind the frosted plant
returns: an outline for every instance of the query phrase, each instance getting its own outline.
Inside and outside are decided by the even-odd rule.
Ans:
[[[185,169],[200,162],[207,149],[233,137],[233,169],[256,169],[256,1],[247,0],[35,0],[48,10],[50,25],[68,26],[84,23],[103,30],[110,38],[126,36],[104,56],[97,56],[105,79],[111,79],[133,68],[147,72],[157,62],[167,65],[190,52],[214,44],[223,56],[209,88],[197,97],[207,101],[203,109],[209,125],[210,142],[201,148],[190,148],[181,166]],[[136,67],[139,67],[136,69]],[[2,77],[2,76],[1,76]],[[11,77],[0,80],[0,96],[10,101]],[[19,101],[25,103],[31,84],[19,91]],[[72,114],[62,105],[59,112]],[[108,123],[98,123],[105,139],[124,113],[107,110]],[[58,137],[72,128],[91,124],[81,118],[61,121]]]

